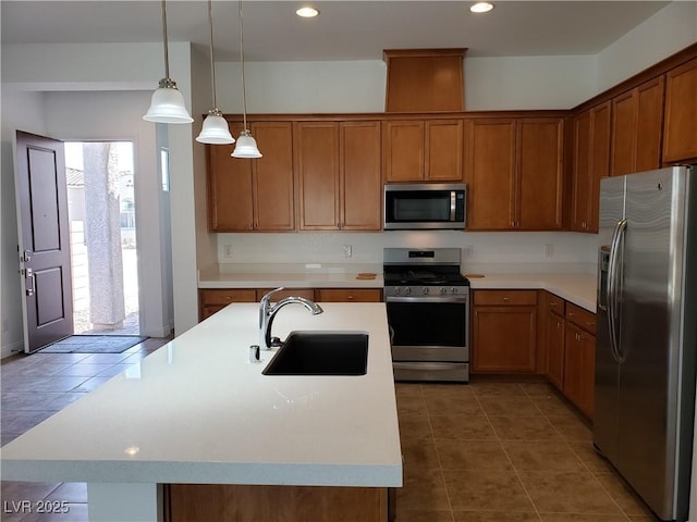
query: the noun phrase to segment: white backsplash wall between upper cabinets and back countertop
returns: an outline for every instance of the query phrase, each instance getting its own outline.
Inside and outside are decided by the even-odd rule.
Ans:
[[[234,264],[382,264],[384,247],[462,249],[465,272],[595,273],[597,236],[565,232],[218,234],[220,270]]]

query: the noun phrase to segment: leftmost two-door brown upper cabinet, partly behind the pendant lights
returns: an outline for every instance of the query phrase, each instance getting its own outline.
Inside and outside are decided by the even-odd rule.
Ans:
[[[242,124],[231,124],[234,136]],[[208,146],[208,215],[212,232],[295,229],[290,122],[250,124],[264,158],[232,158],[234,145]]]

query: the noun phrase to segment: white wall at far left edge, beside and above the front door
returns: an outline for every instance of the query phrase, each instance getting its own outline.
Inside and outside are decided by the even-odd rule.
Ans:
[[[44,95],[2,86],[0,132],[0,357],[24,349],[22,293],[17,258],[17,220],[14,199],[13,140],[15,130],[46,135]]]

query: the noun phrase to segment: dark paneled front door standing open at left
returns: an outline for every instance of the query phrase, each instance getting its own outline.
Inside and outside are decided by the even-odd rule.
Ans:
[[[63,142],[17,130],[15,186],[24,351],[73,333]]]

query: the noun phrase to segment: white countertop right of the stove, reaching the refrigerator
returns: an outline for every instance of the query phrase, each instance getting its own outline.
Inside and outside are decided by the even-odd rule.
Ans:
[[[466,274],[465,274],[466,275]],[[597,277],[589,274],[487,274],[469,277],[473,289],[543,289],[596,313]]]

